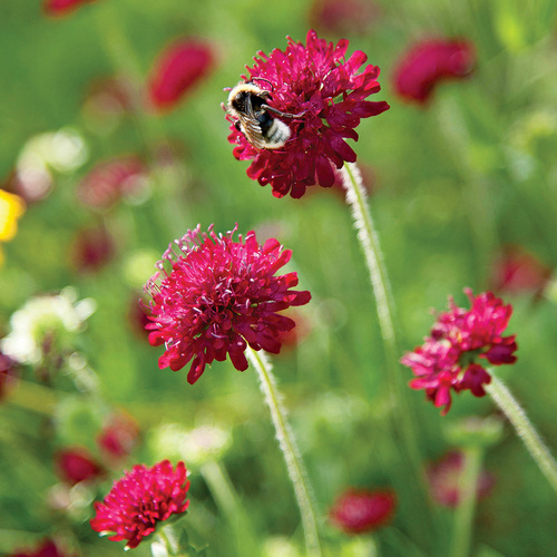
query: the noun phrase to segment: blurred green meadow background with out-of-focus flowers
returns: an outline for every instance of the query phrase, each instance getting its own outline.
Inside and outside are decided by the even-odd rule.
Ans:
[[[389,525],[373,532],[354,537],[328,519],[349,487],[393,487],[389,417],[400,409],[385,395],[374,300],[341,188],[277,199],[251,180],[226,139],[223,89],[257,51],[284,50],[286,36],[304,42],[309,29],[349,39],[349,53],[363,50],[381,68],[372,100],[391,109],[362,120],[352,147],[402,348],[422,341],[430,309],[443,310],[449,295],[466,305],[465,286],[504,296],[515,309],[509,334],[519,359],[499,377],[555,447],[557,2],[66,4],[0,6],[0,335],[17,330],[27,346],[2,363],[0,553],[55,538],[63,555],[119,554],[123,544],[90,529],[92,500],[134,463],[170,458],[192,470],[184,522],[194,546],[208,543],[215,556],[303,555],[252,370],[215,362],[188,385],[187,370],[158,369],[162,350],[143,330],[138,300],[167,245],[198,223],[217,232],[237,223],[291,248],[290,268],[312,293],[291,314],[296,334],[274,367],[323,514],[326,555],[448,555],[455,505],[434,496],[438,527],[422,532],[434,538],[430,549],[412,532],[403,492]],[[397,68],[430,39],[465,41],[467,66],[433,71],[427,98],[412,99]],[[182,47],[190,75],[168,85],[165,63],[182,68],[168,61]],[[410,380],[410,370],[400,372]],[[447,417],[423,392],[408,394],[424,468],[459,449],[448,429],[495,414],[469,393]],[[507,424],[483,466],[490,480],[472,555],[551,555],[555,494]],[[458,466],[447,481],[455,476]]]

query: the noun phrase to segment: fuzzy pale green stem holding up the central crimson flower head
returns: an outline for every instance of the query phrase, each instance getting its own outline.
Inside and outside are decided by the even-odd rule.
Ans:
[[[286,468],[294,486],[294,494],[302,515],[307,556],[320,557],[321,546],[317,534],[316,512],[313,505],[313,491],[294,440],[294,433],[286,421],[286,410],[282,404],[282,397],[278,393],[274,375],[271,371],[271,362],[265,354],[255,352],[251,348],[247,348],[246,355],[260,375],[261,390],[271,410],[271,418],[276,430],[278,446],[286,460]]]

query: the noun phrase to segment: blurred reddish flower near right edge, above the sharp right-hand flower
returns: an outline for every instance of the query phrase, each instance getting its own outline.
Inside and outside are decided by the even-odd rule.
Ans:
[[[553,268],[519,246],[506,246],[491,268],[490,283],[496,292],[539,297],[553,275]]]

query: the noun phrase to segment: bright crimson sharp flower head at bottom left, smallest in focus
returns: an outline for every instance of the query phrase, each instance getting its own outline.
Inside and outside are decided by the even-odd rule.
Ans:
[[[110,534],[113,541],[127,540],[126,548],[133,549],[158,522],[186,511],[188,488],[184,462],[176,470],[168,460],[153,468],[136,465],[115,481],[104,502],[95,502],[91,528],[101,536]]]

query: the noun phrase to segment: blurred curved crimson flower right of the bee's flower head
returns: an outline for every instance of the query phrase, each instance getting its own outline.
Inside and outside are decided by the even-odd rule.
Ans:
[[[393,71],[393,86],[404,100],[426,105],[436,87],[467,77],[476,63],[476,50],[467,39],[427,39],[413,45]]]

